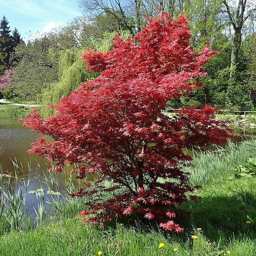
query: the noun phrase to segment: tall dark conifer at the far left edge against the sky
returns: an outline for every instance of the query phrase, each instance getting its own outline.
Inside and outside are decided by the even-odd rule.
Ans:
[[[4,70],[10,68],[9,58],[14,45],[12,41],[12,36],[10,35],[10,27],[8,27],[8,21],[4,16],[0,24],[0,74]]]

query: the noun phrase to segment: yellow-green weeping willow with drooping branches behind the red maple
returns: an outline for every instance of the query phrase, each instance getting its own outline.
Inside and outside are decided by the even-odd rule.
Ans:
[[[62,97],[69,96],[71,91],[77,90],[81,82],[94,79],[98,74],[96,72],[85,70],[80,53],[81,49],[65,50],[59,60],[59,81],[46,84],[41,94],[37,96],[38,102],[43,107],[41,114],[47,117],[53,114],[53,110],[46,106],[47,104],[57,104]]]

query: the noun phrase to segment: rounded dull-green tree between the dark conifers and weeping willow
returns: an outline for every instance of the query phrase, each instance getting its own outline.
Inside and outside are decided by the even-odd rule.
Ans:
[[[15,90],[16,97],[25,101],[36,101],[37,95],[47,83],[58,80],[58,59],[60,52],[53,48],[48,37],[20,42],[13,58],[18,60],[9,90]]]

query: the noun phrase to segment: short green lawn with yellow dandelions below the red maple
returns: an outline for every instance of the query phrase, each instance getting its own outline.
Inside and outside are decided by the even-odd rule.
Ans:
[[[185,206],[191,220],[183,223],[183,234],[139,222],[101,229],[78,217],[64,218],[37,230],[2,235],[0,255],[256,255],[256,226],[246,223],[247,215],[256,217],[256,179],[230,177],[205,186],[198,195],[203,199]],[[165,245],[161,249],[160,243]]]

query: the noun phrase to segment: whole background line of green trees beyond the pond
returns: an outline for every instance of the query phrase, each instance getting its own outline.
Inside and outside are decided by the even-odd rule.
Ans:
[[[80,82],[97,75],[84,69],[80,52],[89,46],[108,50],[114,34],[133,36],[145,27],[148,17],[159,14],[161,7],[173,18],[180,13],[190,17],[191,43],[197,51],[205,42],[219,51],[206,65],[208,76],[198,79],[204,86],[190,97],[169,102],[169,107],[210,104],[233,110],[256,109],[255,1],[80,0],[80,7],[84,16],[27,43],[15,41],[14,34],[10,36],[8,22],[3,18],[1,75],[4,70],[13,70],[5,79],[7,86],[2,90],[5,98],[56,103],[78,88]],[[12,46],[2,47],[4,34],[9,34]]]

